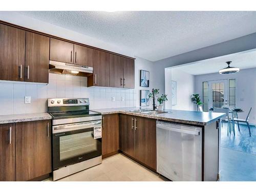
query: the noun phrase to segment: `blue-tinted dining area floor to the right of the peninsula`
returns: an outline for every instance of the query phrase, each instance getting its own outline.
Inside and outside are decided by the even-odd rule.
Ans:
[[[235,125],[235,135],[227,136],[227,123],[221,127],[220,181],[256,181],[256,127]]]

